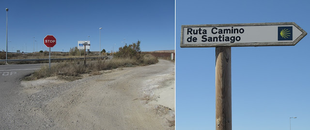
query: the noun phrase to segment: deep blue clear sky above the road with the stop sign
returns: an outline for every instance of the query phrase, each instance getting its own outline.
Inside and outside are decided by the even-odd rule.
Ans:
[[[26,44],[33,52],[34,40],[35,51],[48,50],[47,35],[57,39],[52,51],[67,52],[78,41],[91,41],[90,51],[99,51],[99,28],[107,51],[138,40],[141,51],[174,49],[174,0],[0,0],[0,50],[6,50],[5,8],[9,52],[26,52]]]

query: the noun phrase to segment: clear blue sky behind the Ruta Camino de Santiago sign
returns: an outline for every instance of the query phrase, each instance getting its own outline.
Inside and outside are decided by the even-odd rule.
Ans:
[[[181,25],[295,22],[295,46],[232,47],[233,130],[310,130],[309,0],[176,0],[176,130],[215,130],[215,48],[180,48]],[[259,35],[257,37],[260,37]],[[263,37],[262,37],[263,38]]]

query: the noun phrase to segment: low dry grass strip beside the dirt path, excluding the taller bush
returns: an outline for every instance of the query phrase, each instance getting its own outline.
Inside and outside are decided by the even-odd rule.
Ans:
[[[89,75],[101,74],[99,71],[111,70],[122,67],[135,67],[148,64],[155,64],[158,60],[153,56],[143,56],[139,61],[131,58],[113,58],[110,60],[97,59],[87,61],[86,65],[83,61],[73,60],[56,63],[49,69],[48,66],[43,66],[40,70],[34,72],[24,80],[36,80],[50,76],[58,76],[64,80],[73,81],[79,79],[81,74],[89,73]]]

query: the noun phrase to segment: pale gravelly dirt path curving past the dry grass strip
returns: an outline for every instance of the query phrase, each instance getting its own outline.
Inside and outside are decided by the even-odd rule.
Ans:
[[[22,82],[33,129],[174,130],[174,63],[105,71],[74,82]]]

